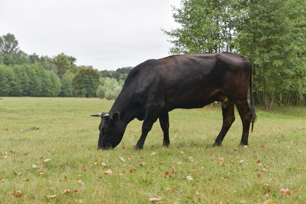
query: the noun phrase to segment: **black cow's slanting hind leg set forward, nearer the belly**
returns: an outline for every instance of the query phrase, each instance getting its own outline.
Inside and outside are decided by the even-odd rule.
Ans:
[[[221,145],[227,131],[235,121],[234,102],[227,101],[226,104],[222,103],[222,116],[223,116],[222,128],[219,132],[219,135],[216,138],[214,146]]]

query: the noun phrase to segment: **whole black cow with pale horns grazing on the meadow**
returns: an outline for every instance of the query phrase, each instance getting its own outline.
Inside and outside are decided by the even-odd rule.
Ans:
[[[131,69],[123,88],[108,113],[101,117],[98,149],[116,147],[129,122],[143,121],[134,149],[142,149],[154,122],[159,119],[168,146],[169,115],[175,108],[201,108],[221,102],[223,124],[215,145],[220,145],[235,121],[234,105],[243,130],[240,145],[248,144],[250,122],[257,118],[251,81],[251,63],[232,53],[174,55],[145,61]],[[248,104],[248,89],[250,103]]]

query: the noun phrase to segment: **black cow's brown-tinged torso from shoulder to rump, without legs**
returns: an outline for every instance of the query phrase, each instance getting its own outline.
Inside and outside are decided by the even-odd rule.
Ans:
[[[127,82],[142,103],[161,99],[172,110],[247,95],[249,74],[242,55],[188,54],[145,61],[131,70]]]

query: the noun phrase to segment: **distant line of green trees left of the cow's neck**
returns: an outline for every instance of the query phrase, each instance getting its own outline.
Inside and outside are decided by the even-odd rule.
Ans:
[[[0,37],[0,96],[113,100],[132,68],[98,71],[92,66],[77,66],[76,60],[64,53],[54,57],[26,54],[20,50],[13,34],[3,35]]]

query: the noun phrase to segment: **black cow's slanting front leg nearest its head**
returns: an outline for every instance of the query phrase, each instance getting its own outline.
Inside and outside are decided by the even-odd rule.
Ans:
[[[151,106],[146,108],[146,116],[142,123],[141,136],[136,145],[134,146],[134,149],[143,149],[146,137],[152,129],[154,122],[156,122],[159,114],[160,108],[158,106]]]

